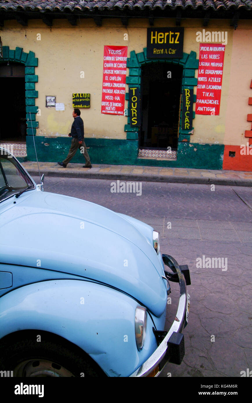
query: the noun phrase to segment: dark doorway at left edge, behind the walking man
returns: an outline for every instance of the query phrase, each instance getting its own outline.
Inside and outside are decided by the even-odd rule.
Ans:
[[[1,63],[0,88],[0,141],[25,141],[25,66]]]

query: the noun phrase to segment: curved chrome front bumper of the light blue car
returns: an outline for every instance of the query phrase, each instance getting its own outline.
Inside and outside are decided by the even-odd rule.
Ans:
[[[185,314],[186,314],[186,306],[187,306],[187,290],[186,290],[186,281],[183,273],[181,272],[181,269],[179,267],[179,264],[176,262],[172,256],[169,255],[163,255],[167,260],[169,260],[170,263],[170,268],[173,266],[172,270],[173,272],[176,272],[177,276],[177,281],[179,281],[179,286],[180,286],[180,296],[179,296],[179,305],[177,309],[177,314],[175,317],[175,320],[169,329],[167,335],[163,339],[163,341],[160,343],[160,345],[157,347],[157,349],[154,351],[154,353],[142,364],[133,374],[130,376],[147,376],[156,368],[156,366],[160,366],[159,372],[155,375],[158,376],[160,374],[162,368],[165,366],[167,362],[170,361],[170,348],[169,345],[167,344],[169,342],[169,339],[173,335],[173,332],[175,333],[181,333],[186,322]],[[175,270],[174,270],[175,268]],[[168,277],[169,278],[169,277]],[[169,278],[171,280],[171,278]],[[172,280],[176,281],[176,280]],[[189,283],[190,284],[190,283]],[[174,336],[174,335],[173,335]],[[176,336],[176,335],[175,335]],[[182,341],[183,342],[183,341]]]

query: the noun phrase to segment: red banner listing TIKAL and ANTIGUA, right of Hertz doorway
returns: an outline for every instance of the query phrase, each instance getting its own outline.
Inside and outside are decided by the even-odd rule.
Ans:
[[[219,115],[225,45],[200,44],[195,113]]]

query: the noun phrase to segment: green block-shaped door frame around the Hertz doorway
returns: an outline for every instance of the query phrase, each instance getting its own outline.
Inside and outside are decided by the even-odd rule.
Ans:
[[[177,63],[183,66],[183,76],[182,76],[182,91],[184,88],[194,89],[197,85],[198,79],[195,78],[195,70],[198,69],[199,60],[196,59],[196,52],[191,52],[190,54],[183,52],[183,57],[181,59],[149,59],[146,54],[147,48],[144,48],[143,52],[135,53],[134,50],[130,52],[130,57],[127,58],[127,67],[129,67],[129,76],[126,77],[126,84],[129,88],[139,87],[141,93],[141,66],[145,63],[155,63],[155,62],[169,62]],[[129,101],[129,93],[125,93],[125,99]],[[196,94],[194,94],[194,102],[196,102]],[[192,129],[181,129],[181,115],[182,115],[182,103],[181,99],[181,111],[179,120],[179,142],[190,142],[190,135],[194,133],[194,128]],[[129,117],[129,102],[128,108],[125,110],[126,116],[128,116],[127,125],[124,127],[124,131],[127,133],[127,140],[137,140],[139,135],[140,127],[130,126]],[[195,112],[193,112],[193,119],[195,118]]]

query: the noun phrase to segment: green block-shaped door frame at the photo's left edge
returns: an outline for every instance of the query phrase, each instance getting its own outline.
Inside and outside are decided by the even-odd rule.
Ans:
[[[19,62],[25,65],[25,105],[26,105],[26,120],[27,120],[27,135],[36,134],[38,122],[36,122],[36,113],[38,107],[35,106],[35,98],[38,97],[38,91],[35,91],[35,83],[38,81],[38,76],[35,75],[35,67],[38,65],[38,59],[34,52],[25,53],[23,48],[10,50],[9,46],[3,46],[3,58],[1,62]],[[31,117],[30,117],[31,113]]]

